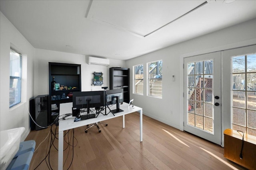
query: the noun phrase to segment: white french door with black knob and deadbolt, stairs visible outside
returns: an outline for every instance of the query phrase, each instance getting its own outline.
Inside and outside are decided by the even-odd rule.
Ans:
[[[221,52],[184,58],[184,131],[221,145]]]

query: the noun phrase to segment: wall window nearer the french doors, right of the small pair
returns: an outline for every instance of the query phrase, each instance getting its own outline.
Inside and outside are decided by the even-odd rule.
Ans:
[[[162,98],[162,60],[148,63],[148,96]]]

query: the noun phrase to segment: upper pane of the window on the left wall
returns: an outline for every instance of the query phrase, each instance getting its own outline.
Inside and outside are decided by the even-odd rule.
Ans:
[[[20,54],[14,50],[10,50],[10,76],[21,76],[21,60]]]

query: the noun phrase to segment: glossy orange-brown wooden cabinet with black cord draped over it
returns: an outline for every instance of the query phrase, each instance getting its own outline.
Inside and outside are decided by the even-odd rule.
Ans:
[[[235,130],[224,131],[224,157],[245,168],[256,170],[256,137],[244,134],[243,159],[240,159],[242,137],[242,133]]]

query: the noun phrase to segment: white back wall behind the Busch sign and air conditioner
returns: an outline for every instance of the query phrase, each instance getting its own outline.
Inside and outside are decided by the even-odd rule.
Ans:
[[[82,91],[103,90],[101,87],[104,86],[109,89],[109,68],[125,66],[125,61],[114,59],[110,59],[109,66],[91,65],[88,64],[88,56],[44,49],[35,49],[35,56],[35,96],[49,94],[49,62],[81,64]],[[102,86],[91,86],[93,72],[103,73]]]

